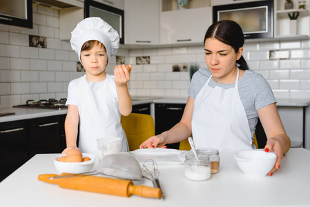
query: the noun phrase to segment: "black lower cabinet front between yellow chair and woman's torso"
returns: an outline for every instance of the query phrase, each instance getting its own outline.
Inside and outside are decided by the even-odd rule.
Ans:
[[[155,103],[155,135],[171,129],[180,122],[185,104]],[[180,143],[166,144],[167,148],[179,149]]]

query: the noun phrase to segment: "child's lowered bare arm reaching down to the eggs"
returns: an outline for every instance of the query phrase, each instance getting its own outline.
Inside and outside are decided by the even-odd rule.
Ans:
[[[68,150],[77,148],[77,131],[79,125],[79,111],[77,106],[69,105],[65,120],[66,144],[67,148],[62,152],[66,154]]]

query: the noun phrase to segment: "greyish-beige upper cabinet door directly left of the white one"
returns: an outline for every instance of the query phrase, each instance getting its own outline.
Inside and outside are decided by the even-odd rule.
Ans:
[[[159,44],[159,1],[125,0],[125,44]]]

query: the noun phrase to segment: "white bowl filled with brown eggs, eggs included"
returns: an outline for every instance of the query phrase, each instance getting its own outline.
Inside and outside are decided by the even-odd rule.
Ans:
[[[63,172],[84,173],[93,171],[95,159],[95,155],[72,149],[68,150],[66,154],[55,157],[54,165],[59,174]]]

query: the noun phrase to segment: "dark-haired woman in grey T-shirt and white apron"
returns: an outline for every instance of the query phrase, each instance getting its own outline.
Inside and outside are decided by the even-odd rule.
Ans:
[[[166,148],[165,144],[193,135],[197,148],[251,149],[258,117],[267,135],[265,151],[277,155],[269,175],[291,145],[284,130],[273,92],[242,57],[244,36],[234,21],[213,23],[204,37],[206,66],[198,70],[188,90],[181,121],[170,130],[149,138],[140,148]]]

